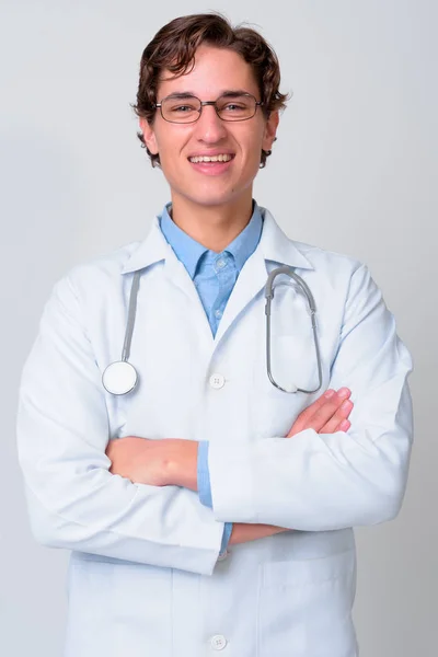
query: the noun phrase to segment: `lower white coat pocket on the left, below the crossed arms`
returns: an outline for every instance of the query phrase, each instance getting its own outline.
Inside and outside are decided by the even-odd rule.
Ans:
[[[170,569],[73,553],[68,581],[66,657],[169,654]]]

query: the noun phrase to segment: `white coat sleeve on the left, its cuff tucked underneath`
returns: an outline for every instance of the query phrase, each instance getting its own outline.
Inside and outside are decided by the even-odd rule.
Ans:
[[[33,533],[51,548],[211,574],[223,523],[197,493],[110,473],[101,372],[68,277],[54,288],[24,365],[19,459]]]

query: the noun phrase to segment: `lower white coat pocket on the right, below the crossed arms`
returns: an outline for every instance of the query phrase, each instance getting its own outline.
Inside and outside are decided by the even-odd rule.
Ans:
[[[354,657],[355,551],[261,564],[257,657]]]

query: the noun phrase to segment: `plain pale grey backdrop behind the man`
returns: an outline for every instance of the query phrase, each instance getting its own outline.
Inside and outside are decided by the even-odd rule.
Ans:
[[[206,8],[0,5],[0,649],[59,657],[67,554],[30,533],[15,457],[19,377],[55,280],[74,263],[142,239],[169,199],[137,142],[129,103],[141,51],[159,27]],[[408,492],[395,521],[357,531],[355,616],[364,657],[433,657],[437,3],[228,0],[207,9],[260,28],[280,58],[283,89],[295,94],[255,198],[290,237],[367,263],[413,353]]]

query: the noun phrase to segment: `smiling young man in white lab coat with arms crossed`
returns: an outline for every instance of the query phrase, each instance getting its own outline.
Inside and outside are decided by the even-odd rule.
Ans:
[[[46,306],[19,449],[36,538],[72,551],[67,657],[357,655],[351,528],[401,507],[412,364],[367,268],[253,200],[278,85],[252,30],[160,30],[136,111],[171,203]]]

